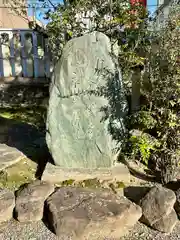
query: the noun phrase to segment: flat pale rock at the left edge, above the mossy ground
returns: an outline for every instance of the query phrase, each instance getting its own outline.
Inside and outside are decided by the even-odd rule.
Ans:
[[[23,159],[24,155],[16,148],[0,144],[0,171]]]

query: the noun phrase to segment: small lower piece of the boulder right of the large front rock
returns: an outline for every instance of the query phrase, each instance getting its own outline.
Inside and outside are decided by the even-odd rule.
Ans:
[[[162,217],[159,221],[155,222],[152,227],[160,232],[171,233],[178,221],[177,214],[172,209],[172,211]]]

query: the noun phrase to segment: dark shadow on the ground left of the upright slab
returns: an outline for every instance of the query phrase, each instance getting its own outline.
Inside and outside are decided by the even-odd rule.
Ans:
[[[46,163],[52,161],[45,141],[45,130],[28,123],[0,117],[0,143],[18,149],[36,162],[37,178],[41,177]]]

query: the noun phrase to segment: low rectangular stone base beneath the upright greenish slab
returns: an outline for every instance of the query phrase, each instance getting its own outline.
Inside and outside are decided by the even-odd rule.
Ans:
[[[115,180],[129,183],[130,172],[122,163],[118,163],[111,169],[64,169],[47,163],[41,180],[52,183],[59,183],[66,180],[83,181],[87,179],[98,179],[104,181]]]

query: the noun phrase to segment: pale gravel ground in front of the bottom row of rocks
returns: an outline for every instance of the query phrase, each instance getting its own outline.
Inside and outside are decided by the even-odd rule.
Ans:
[[[70,240],[67,237],[58,238],[49,231],[43,222],[20,224],[10,221],[0,232],[0,240]],[[113,240],[113,239],[106,239]],[[141,223],[137,223],[128,235],[120,240],[180,240],[180,223],[170,235],[154,231]]]

